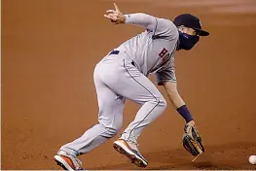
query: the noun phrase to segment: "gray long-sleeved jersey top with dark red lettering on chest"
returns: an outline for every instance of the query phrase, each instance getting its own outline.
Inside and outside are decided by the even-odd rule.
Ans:
[[[174,51],[179,34],[173,22],[145,14],[126,15],[126,20],[128,23],[145,27],[146,31],[129,39],[117,50],[127,51],[145,76],[156,73],[159,85],[162,85],[162,81],[176,82]],[[152,39],[153,35],[159,36],[160,39]]]

